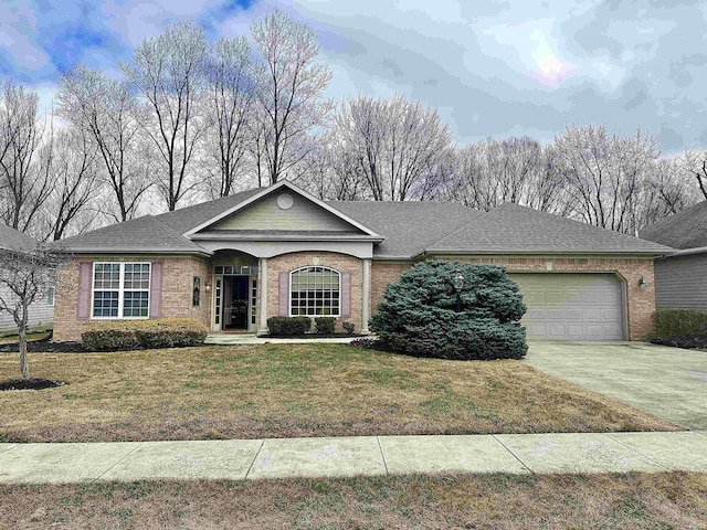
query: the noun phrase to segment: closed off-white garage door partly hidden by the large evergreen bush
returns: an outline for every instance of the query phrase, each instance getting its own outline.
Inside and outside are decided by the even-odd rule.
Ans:
[[[529,339],[623,340],[623,296],[612,274],[509,274],[528,312]]]

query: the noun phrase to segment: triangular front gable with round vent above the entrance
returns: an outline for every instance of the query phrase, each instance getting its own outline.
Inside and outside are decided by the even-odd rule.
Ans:
[[[190,236],[208,230],[220,231],[300,231],[358,233],[380,237],[371,229],[336,208],[281,181],[218,213],[187,231]]]

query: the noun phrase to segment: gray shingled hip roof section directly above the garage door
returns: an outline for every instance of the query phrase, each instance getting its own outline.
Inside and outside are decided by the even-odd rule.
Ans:
[[[579,221],[504,204],[471,224],[430,244],[429,252],[479,253],[645,253],[672,252],[666,246]]]

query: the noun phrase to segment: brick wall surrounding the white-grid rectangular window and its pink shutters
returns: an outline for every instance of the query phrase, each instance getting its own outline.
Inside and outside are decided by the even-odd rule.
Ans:
[[[80,262],[162,262],[161,318],[193,318],[211,326],[211,293],[204,289],[210,280],[211,267],[198,257],[165,256],[92,256],[70,261],[59,275],[55,297],[54,340],[81,340],[84,326],[95,320],[78,320],[78,263]],[[192,307],[192,277],[201,276],[201,305]]]

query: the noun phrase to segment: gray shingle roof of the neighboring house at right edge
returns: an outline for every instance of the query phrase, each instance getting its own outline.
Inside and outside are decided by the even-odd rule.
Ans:
[[[639,235],[673,248],[707,247],[707,201],[646,226]]]

